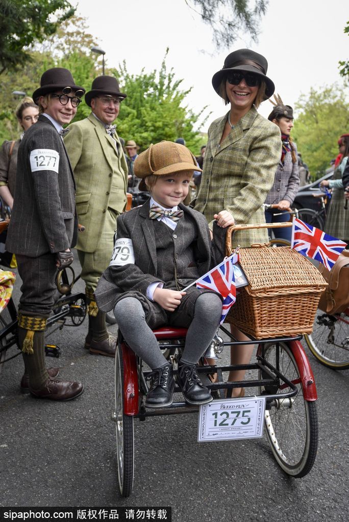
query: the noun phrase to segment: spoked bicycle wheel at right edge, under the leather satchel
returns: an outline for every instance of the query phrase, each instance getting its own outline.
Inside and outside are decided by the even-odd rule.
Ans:
[[[311,353],[334,370],[349,369],[349,309],[327,315],[317,311],[311,335],[305,335]]]

